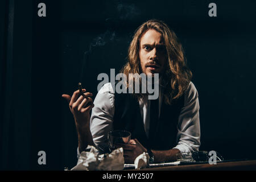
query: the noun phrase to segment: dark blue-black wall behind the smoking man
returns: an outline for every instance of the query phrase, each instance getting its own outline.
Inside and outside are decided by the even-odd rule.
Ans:
[[[217,17],[208,16],[211,2]],[[135,29],[151,18],[183,44],[199,92],[200,150],[255,159],[255,9],[255,1],[0,1],[0,169],[75,166],[76,129],[61,94],[81,81],[96,96],[98,74],[119,72]]]

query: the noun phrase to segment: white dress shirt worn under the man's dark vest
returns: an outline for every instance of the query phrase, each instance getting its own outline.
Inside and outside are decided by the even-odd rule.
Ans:
[[[159,115],[162,104],[162,90],[162,86],[159,85]],[[184,107],[181,108],[177,122],[177,145],[174,148],[179,149],[181,152],[198,151],[200,146],[199,98],[196,87],[192,82],[189,83],[184,96]],[[100,151],[108,149],[107,135],[113,129],[114,104],[112,84],[105,84],[94,100],[90,118],[90,131],[92,132],[93,142]],[[139,101],[139,107],[144,122],[144,130],[148,135],[150,100]]]

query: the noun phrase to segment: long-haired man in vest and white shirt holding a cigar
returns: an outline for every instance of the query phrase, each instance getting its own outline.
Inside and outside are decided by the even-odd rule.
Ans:
[[[107,151],[107,134],[117,129],[130,131],[133,138],[129,144],[117,145],[123,147],[125,163],[134,163],[143,152],[154,162],[167,162],[176,160],[180,152],[198,151],[199,98],[183,48],[167,24],[148,20],[137,29],[122,73],[127,77],[129,73],[158,73],[158,99],[148,100],[142,93],[117,94],[110,83],[101,88],[94,104],[92,93],[85,89],[86,97],[79,97],[79,90],[72,97],[63,94],[75,118],[79,152],[88,144]]]

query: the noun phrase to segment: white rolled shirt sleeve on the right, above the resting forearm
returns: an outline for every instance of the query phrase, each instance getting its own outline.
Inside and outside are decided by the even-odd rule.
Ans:
[[[184,93],[184,107],[177,123],[177,148],[180,152],[198,151],[200,147],[199,97],[195,85],[190,82]]]

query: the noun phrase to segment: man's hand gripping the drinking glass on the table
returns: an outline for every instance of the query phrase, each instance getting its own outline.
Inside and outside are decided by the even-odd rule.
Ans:
[[[131,139],[129,144],[115,144],[115,147],[123,147],[123,157],[126,164],[134,164],[134,160],[143,152],[147,152],[147,149],[142,146],[137,139]]]

